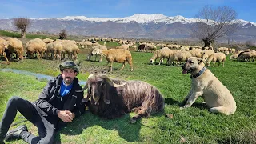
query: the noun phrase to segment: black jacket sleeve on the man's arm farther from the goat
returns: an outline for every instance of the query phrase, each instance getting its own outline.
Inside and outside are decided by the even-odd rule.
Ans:
[[[59,110],[54,106],[52,106],[50,102],[48,102],[51,98],[50,94],[52,94],[51,92],[53,87],[52,82],[53,81],[49,81],[47,85],[44,87],[41,94],[39,94],[39,98],[35,102],[35,105],[38,106],[41,110],[43,110],[48,115],[57,115]]]

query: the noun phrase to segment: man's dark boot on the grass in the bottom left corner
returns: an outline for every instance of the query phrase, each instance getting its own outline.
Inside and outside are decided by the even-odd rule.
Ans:
[[[14,130],[9,130],[6,134],[6,138],[5,138],[6,142],[13,138],[22,138],[23,131],[28,131],[25,125],[18,126]]]

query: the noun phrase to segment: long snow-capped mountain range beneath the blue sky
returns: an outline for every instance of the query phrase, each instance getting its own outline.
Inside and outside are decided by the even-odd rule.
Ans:
[[[125,18],[87,18],[66,16],[64,18],[31,18],[30,32],[59,33],[66,29],[68,34],[124,37],[124,38],[190,38],[190,26],[197,18],[184,18],[181,15],[168,17],[163,14],[134,14]],[[0,29],[15,30],[12,19],[0,19]],[[247,40],[256,38],[256,23],[242,19],[234,20],[241,26],[234,38]]]

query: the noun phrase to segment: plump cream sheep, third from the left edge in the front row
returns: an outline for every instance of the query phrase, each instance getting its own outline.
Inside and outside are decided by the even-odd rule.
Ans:
[[[26,42],[26,55],[28,55],[30,58],[34,53],[36,53],[38,54],[37,58],[42,59],[42,56],[46,50],[46,43],[43,42],[40,38],[35,38],[29,42]]]

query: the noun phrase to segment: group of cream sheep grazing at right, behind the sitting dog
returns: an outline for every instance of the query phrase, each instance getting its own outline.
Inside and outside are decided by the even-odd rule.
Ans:
[[[179,46],[170,45],[162,47],[160,50],[155,50],[153,56],[150,58],[150,63],[154,64],[156,59],[160,59],[159,65],[162,64],[163,60],[166,58],[166,65],[174,65],[174,62],[180,64],[181,62],[186,62],[190,57],[202,58],[202,61],[206,63],[206,66],[210,66],[213,62],[213,66],[218,62],[222,62],[224,67],[224,62],[226,61],[226,55],[232,54],[230,59],[237,59],[238,61],[251,61],[254,62],[256,58],[255,50],[235,50],[226,47],[219,47],[216,52],[213,47],[200,47],[200,46]],[[178,65],[179,66],[179,65]]]

